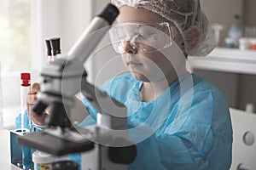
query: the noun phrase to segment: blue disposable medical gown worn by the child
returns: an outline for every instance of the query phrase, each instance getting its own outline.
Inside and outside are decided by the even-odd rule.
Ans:
[[[141,134],[154,132],[137,144],[137,158],[130,169],[230,169],[229,106],[212,82],[186,74],[150,103],[140,99],[142,85],[125,74],[102,87],[127,107],[130,128],[144,124],[146,129]],[[91,117],[80,126],[87,126],[96,122],[96,110],[86,99],[83,102]],[[140,140],[140,133],[133,135],[135,141]],[[79,156],[76,159],[79,161]]]

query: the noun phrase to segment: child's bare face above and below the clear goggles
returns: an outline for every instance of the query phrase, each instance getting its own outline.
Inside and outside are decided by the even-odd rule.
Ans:
[[[162,18],[158,14],[154,14],[151,11],[148,11],[144,8],[132,8],[129,6],[123,6],[119,8],[120,14],[118,21],[119,23],[160,23],[160,22],[168,22],[169,25],[173,24]],[[174,41],[176,42],[172,44],[170,49],[174,47],[175,50],[180,50],[182,48],[182,38],[178,35],[174,35],[176,37]],[[171,54],[165,56],[159,51],[152,51],[149,53],[145,53],[143,48],[140,48],[140,45],[136,47],[132,46],[130,42],[124,43],[124,54],[122,54],[122,59],[126,65],[126,67],[131,71],[133,77],[137,80],[143,82],[158,82],[162,79],[168,79],[175,74],[175,70],[173,68],[172,59],[175,56],[172,56],[172,50],[170,50]],[[168,50],[168,48],[166,49]],[[175,53],[177,54],[177,53]]]

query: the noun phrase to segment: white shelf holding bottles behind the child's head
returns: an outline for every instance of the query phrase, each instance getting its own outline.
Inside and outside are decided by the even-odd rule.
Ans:
[[[206,57],[189,56],[191,69],[256,75],[256,51],[215,48]]]

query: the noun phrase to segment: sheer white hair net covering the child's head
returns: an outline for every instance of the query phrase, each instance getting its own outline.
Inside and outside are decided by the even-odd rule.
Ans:
[[[112,0],[112,3],[117,7],[128,5],[146,8],[172,21],[183,37],[186,54],[206,56],[215,48],[216,42],[212,36],[212,29],[207,16],[201,10],[200,0]],[[200,39],[193,48],[189,48],[187,44],[192,38],[192,35],[186,32],[190,26],[197,26],[201,31]]]

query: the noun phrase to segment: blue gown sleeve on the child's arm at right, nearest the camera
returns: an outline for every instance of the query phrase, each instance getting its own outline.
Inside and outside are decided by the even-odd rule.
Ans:
[[[232,128],[224,96],[206,90],[196,93],[191,105],[174,107],[180,109],[164,133],[137,144],[130,169],[229,169]]]

